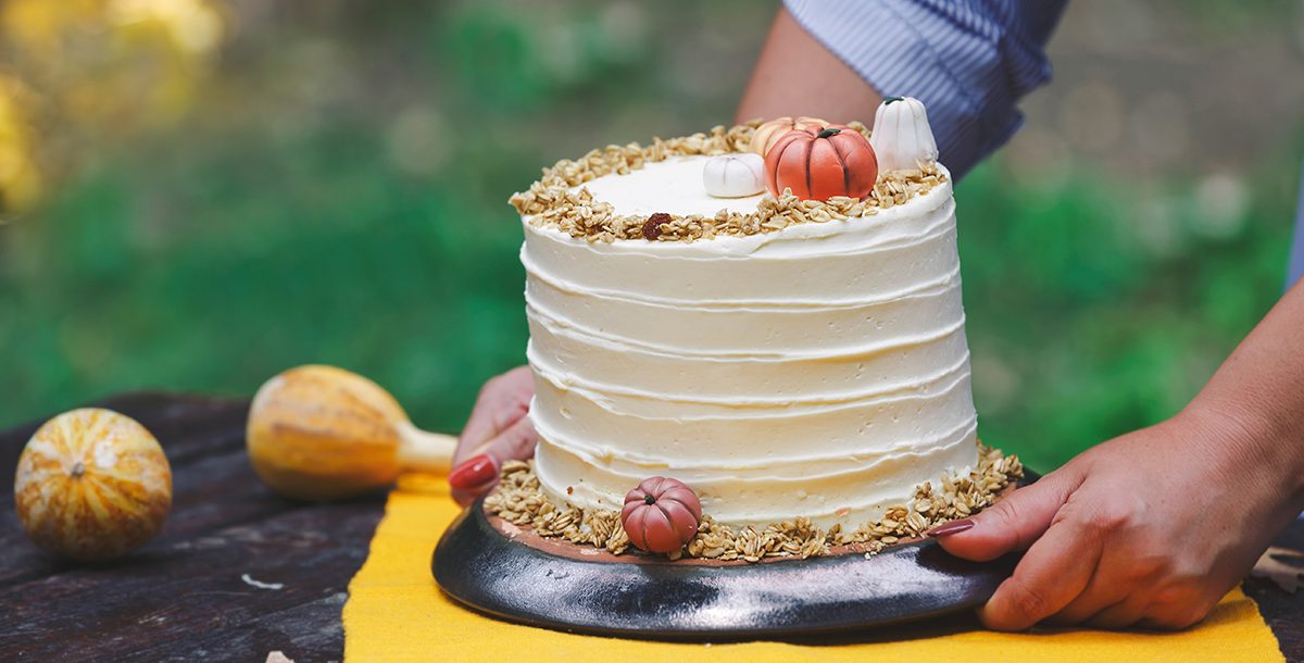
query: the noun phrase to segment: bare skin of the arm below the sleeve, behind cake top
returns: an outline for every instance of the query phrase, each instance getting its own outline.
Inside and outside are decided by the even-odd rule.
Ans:
[[[780,8],[738,104],[737,121],[808,115],[870,124],[880,100],[870,84]]]

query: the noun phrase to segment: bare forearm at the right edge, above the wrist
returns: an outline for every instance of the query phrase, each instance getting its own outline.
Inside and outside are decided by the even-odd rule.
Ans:
[[[1296,285],[1232,351],[1183,412],[1228,431],[1245,471],[1304,509],[1304,283]]]

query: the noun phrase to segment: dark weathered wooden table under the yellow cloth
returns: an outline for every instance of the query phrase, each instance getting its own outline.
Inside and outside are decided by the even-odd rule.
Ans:
[[[271,493],[245,457],[244,399],[141,393],[99,405],[158,436],[172,463],[172,514],[120,563],[53,560],[26,540],[13,510],[10,478],[39,422],[0,432],[0,660],[343,658],[340,608],[383,496],[310,505]],[[1304,549],[1304,521],[1278,543]],[[1304,593],[1257,578],[1245,591],[1286,656],[1304,660]]]

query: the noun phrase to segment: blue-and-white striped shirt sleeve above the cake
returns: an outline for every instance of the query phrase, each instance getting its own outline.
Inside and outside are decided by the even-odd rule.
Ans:
[[[1016,103],[1051,77],[1046,42],[1067,0],[784,0],[884,97],[928,108],[956,179],[1022,125]],[[866,119],[867,121],[868,119]]]

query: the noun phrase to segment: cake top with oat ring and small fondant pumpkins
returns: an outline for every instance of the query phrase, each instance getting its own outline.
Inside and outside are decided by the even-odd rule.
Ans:
[[[878,136],[861,123],[780,117],[647,146],[609,145],[544,168],[510,202],[535,227],[608,243],[709,240],[871,217],[947,177],[926,119],[883,121],[901,100],[879,108]]]

